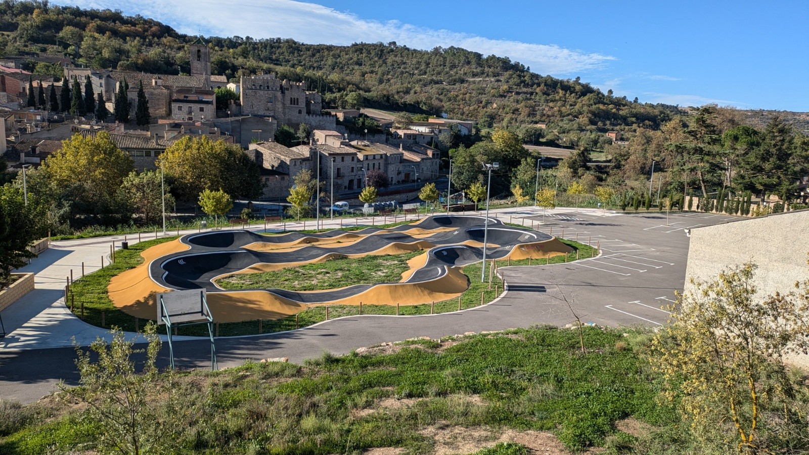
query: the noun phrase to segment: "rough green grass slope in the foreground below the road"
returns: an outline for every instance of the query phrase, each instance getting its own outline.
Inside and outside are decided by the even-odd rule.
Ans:
[[[642,357],[650,335],[587,327],[583,336],[587,354],[578,351],[577,331],[535,327],[323,355],[303,367],[248,363],[180,372],[171,382],[155,381],[152,425],[142,431],[167,432],[150,448],[155,453],[398,447],[415,455],[447,444],[442,435],[449,431],[464,436],[456,442],[466,448],[452,453],[527,453],[519,444],[495,445],[508,429],[551,432],[573,451],[688,453],[672,436],[676,410],[655,399],[657,378]],[[87,419],[83,406],[55,403],[3,410],[0,453],[98,449],[93,444],[106,423]],[[659,441],[659,451],[629,450],[643,443],[616,429],[629,417],[651,429],[638,437]],[[624,451],[615,452],[616,445]]]

